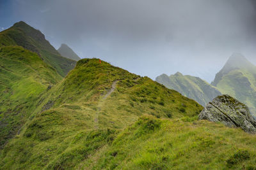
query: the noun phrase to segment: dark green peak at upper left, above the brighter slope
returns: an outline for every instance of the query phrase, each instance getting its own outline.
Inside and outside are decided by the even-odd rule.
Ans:
[[[65,76],[68,71],[76,66],[76,61],[62,57],[45,39],[42,32],[22,21],[0,32],[0,46],[10,45],[22,46],[37,53],[44,62],[54,67],[61,76]]]

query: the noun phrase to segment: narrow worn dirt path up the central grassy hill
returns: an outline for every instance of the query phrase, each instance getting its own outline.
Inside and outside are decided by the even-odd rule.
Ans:
[[[99,103],[97,105],[97,110],[95,111],[95,115],[94,115],[94,129],[99,129],[99,113],[101,111],[101,107],[102,105],[104,104],[104,101],[105,99],[112,93],[115,91],[116,89],[116,83],[118,82],[119,80],[115,80],[113,83],[112,83],[112,87],[111,89],[108,91],[107,94],[105,94],[105,96],[102,97],[102,99],[99,99]]]

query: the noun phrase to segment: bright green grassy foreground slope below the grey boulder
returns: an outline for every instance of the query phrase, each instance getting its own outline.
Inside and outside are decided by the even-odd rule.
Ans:
[[[255,142],[255,135],[222,124],[144,116],[76,168],[255,169]]]

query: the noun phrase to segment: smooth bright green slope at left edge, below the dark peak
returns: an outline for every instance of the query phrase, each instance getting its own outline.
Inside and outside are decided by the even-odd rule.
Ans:
[[[20,46],[0,47],[0,147],[19,131],[49,84],[60,80],[36,53]]]

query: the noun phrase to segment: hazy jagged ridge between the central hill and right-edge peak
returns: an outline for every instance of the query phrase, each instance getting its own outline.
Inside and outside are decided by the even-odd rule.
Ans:
[[[220,91],[198,77],[176,73],[170,76],[162,74],[157,76],[156,81],[168,89],[177,90],[182,95],[194,99],[205,106],[214,97],[221,95]]]

